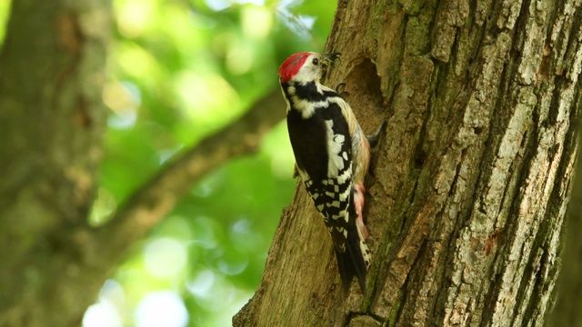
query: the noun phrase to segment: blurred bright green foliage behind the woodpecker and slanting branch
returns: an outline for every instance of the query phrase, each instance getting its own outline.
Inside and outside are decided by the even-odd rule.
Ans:
[[[286,56],[322,50],[335,9],[327,1],[256,3],[262,2],[115,0],[104,91],[111,113],[92,223],[105,223],[173,155],[278,87],[276,70]],[[105,283],[85,326],[104,325],[112,312],[118,316],[110,325],[156,322],[156,312],[167,313],[157,325],[229,325],[260,282],[295,189],[293,165],[280,124],[259,154],[193,185]],[[175,321],[164,320],[168,315]]]

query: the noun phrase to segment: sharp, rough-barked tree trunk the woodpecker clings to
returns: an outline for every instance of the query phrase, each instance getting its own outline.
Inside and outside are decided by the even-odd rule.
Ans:
[[[327,82],[346,83],[367,132],[388,122],[367,187],[366,296],[342,299],[298,185],[235,326],[543,325],[577,152],[581,23],[579,0],[340,1]]]

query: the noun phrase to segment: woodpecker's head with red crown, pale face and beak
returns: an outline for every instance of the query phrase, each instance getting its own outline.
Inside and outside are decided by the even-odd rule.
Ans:
[[[317,54],[303,52],[293,54],[279,67],[281,84],[293,81],[297,83],[318,82],[326,66],[333,66],[339,53]]]

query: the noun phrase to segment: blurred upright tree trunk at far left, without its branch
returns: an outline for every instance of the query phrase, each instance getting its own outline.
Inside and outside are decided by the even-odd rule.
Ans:
[[[0,54],[0,326],[79,326],[101,161],[109,0],[14,0]]]

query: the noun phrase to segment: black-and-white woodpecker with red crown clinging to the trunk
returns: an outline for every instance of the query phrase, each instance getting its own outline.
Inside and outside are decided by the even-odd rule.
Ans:
[[[371,256],[362,212],[370,144],[349,104],[320,82],[339,55],[293,54],[278,74],[296,171],[331,235],[344,293],[354,277],[365,293]]]

